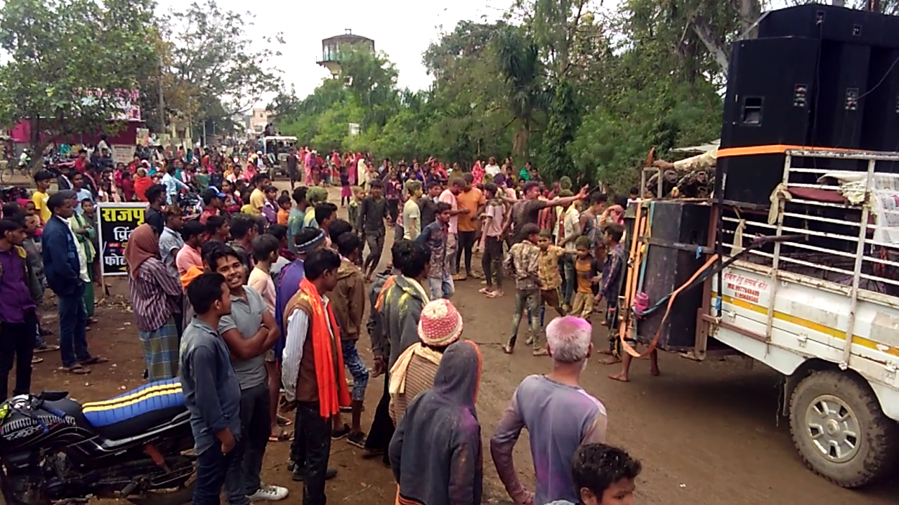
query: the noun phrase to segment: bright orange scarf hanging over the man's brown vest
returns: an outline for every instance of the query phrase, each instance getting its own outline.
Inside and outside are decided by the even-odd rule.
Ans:
[[[330,304],[325,314],[325,304],[322,303],[315,284],[304,278],[299,283],[299,290],[306,294],[309,305],[312,306],[309,327],[312,330],[312,351],[316,360],[318,413],[328,419],[340,412],[341,407],[349,407],[351,402],[350,388],[346,385],[343,371],[343,350],[341,346],[334,345],[335,342],[331,339],[332,334],[334,338],[340,338],[340,329]],[[331,332],[328,332],[329,324]]]

